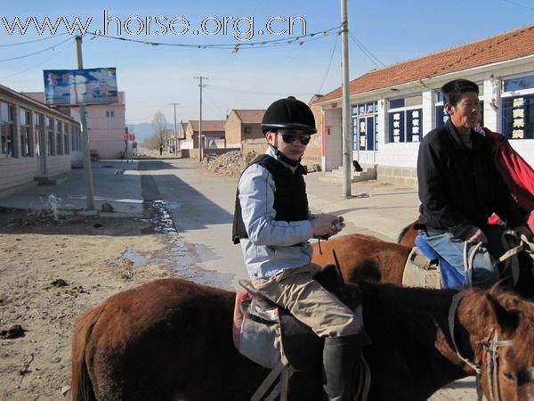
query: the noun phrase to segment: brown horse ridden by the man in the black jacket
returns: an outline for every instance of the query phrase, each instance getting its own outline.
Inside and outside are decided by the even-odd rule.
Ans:
[[[410,227],[410,226],[409,226]],[[406,227],[403,239],[411,236]],[[401,238],[400,238],[401,239]],[[376,282],[391,282],[402,284],[404,266],[412,246],[379,240],[376,237],[363,234],[340,235],[328,241],[312,244],[313,262],[326,266],[335,264],[334,252],[341,267],[345,282],[359,280],[373,280]],[[532,258],[522,251],[518,255],[520,261],[519,280],[514,291],[526,299],[534,299],[534,266]]]

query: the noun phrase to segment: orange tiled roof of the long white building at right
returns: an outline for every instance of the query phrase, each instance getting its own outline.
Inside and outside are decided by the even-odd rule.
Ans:
[[[372,70],[350,83],[350,94],[360,94],[384,87],[432,78],[498,61],[534,54],[534,25],[527,25],[476,42],[426,54],[417,59]],[[319,102],[340,99],[342,88],[326,94]]]

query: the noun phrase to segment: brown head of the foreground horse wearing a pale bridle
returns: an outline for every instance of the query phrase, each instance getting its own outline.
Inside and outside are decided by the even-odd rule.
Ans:
[[[465,292],[458,307],[463,317],[458,318],[470,332],[473,368],[484,396],[490,401],[534,399],[534,303],[497,285]]]

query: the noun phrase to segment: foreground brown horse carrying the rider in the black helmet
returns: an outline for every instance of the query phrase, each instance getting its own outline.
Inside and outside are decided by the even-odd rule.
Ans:
[[[362,293],[364,324],[373,341],[363,350],[372,374],[370,400],[425,400],[475,369],[488,397],[491,333],[501,341],[494,346],[505,346],[497,348],[494,395],[506,401],[534,399],[533,303],[498,289],[459,291],[464,298],[450,331],[448,315],[457,291],[374,282],[349,288]],[[234,297],[163,279],[120,292],[85,312],[72,342],[73,399],[250,399],[268,371],[233,346]],[[305,382],[300,389],[308,394],[292,393],[290,399],[320,400],[320,375],[301,379],[295,387]]]

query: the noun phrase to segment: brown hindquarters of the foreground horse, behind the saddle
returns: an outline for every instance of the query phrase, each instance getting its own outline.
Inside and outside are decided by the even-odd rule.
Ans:
[[[91,361],[96,398],[196,398],[196,392],[210,394],[202,384],[209,376],[219,378],[208,385],[217,399],[225,385],[233,385],[232,370],[239,376],[243,363],[232,347],[233,299],[229,291],[163,279],[120,292],[93,308],[99,314],[92,330],[87,332],[85,318],[80,318],[73,344],[79,344],[78,362],[82,352]]]

